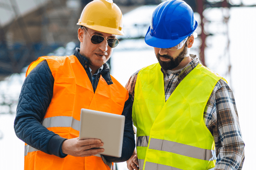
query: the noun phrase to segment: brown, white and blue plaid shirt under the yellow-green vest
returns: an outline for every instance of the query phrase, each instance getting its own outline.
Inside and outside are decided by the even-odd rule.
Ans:
[[[169,75],[164,74],[165,101],[171,96],[178,84],[200,62],[196,55],[183,69]],[[135,72],[126,84],[126,89],[134,100],[134,89],[139,70]],[[242,140],[238,112],[232,90],[222,79],[215,85],[204,109],[204,123],[212,133],[216,149],[215,170],[241,170],[244,163],[244,141]]]

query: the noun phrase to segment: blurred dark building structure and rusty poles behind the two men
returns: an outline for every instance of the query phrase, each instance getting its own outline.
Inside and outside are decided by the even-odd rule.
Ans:
[[[22,13],[21,7],[24,0],[0,0],[1,20],[9,17],[9,21],[0,25],[0,81],[12,73],[20,73],[23,67],[26,67],[39,56],[47,55],[60,46],[68,42],[76,42],[79,46],[76,23],[84,6],[92,0],[26,0],[27,7],[30,10]],[[165,0],[113,0],[120,8],[123,14],[142,5],[158,5]],[[223,57],[229,57],[229,39],[228,39],[228,20],[229,9],[231,7],[248,6],[242,4],[233,4],[232,0],[185,0],[192,7],[194,12],[198,12],[201,21],[197,33],[201,38],[199,57],[205,64],[204,52],[207,47],[207,37],[219,32],[211,32],[209,23],[213,22],[204,17],[204,11],[209,8],[222,8],[222,24],[226,27],[224,32],[227,36],[226,50]],[[23,3],[24,2],[24,3]],[[22,4],[23,3],[23,4]],[[26,5],[25,4],[25,5]],[[255,6],[255,5],[249,5]],[[23,7],[23,8],[26,8]],[[9,16],[11,15],[11,17]],[[144,39],[144,30],[148,29],[148,24],[134,24],[133,30],[127,30],[127,35],[120,38],[125,39]],[[133,34],[134,28],[142,34]],[[130,33],[129,33],[130,32]],[[135,35],[135,36],[134,36]],[[137,36],[138,35],[138,36]],[[230,72],[231,65],[228,70]]]

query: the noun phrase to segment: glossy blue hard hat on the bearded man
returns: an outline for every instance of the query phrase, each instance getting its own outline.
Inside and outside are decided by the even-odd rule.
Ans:
[[[174,47],[190,36],[196,28],[194,12],[186,2],[167,0],[154,10],[145,42],[157,48]]]

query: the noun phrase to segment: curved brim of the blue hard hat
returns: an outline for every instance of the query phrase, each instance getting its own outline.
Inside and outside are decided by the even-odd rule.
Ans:
[[[178,38],[177,40],[166,40],[166,39],[160,39],[160,38],[151,36],[149,31],[150,31],[150,26],[149,26],[149,30],[145,36],[146,44],[148,44],[149,46],[161,48],[161,49],[167,49],[167,48],[174,47],[174,46],[180,44],[180,42],[182,40],[184,40],[185,38],[187,38],[187,36],[188,36],[188,35],[182,36],[182,37]]]

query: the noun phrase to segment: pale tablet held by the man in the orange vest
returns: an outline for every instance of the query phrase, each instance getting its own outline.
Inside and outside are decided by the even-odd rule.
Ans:
[[[96,138],[103,142],[102,155],[121,157],[125,116],[81,109],[79,140]]]

